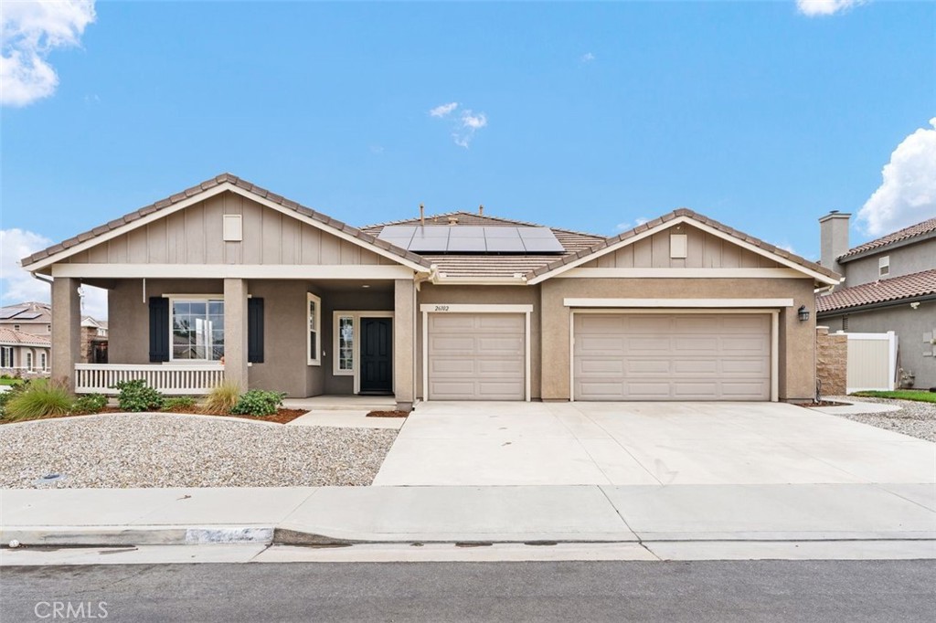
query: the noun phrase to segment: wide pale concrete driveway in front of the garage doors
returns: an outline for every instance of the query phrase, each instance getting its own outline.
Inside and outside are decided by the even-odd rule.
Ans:
[[[373,485],[936,483],[936,443],[765,402],[429,402]]]

